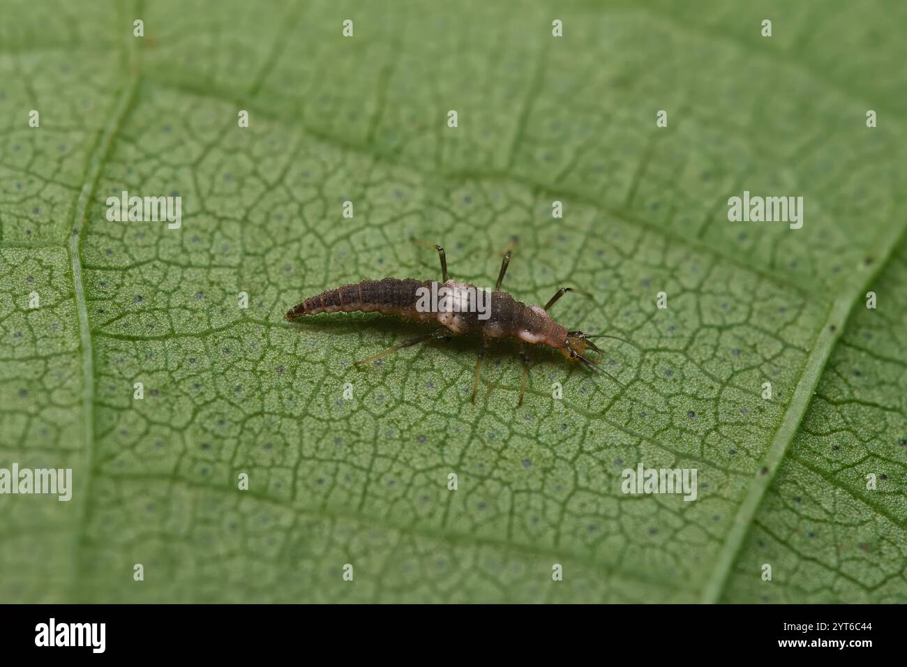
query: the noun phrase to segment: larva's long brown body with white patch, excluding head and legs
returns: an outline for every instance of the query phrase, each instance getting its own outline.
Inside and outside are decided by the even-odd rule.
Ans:
[[[289,310],[287,319],[354,310],[436,322],[454,336],[481,333],[557,349],[565,348],[567,342],[567,329],[540,306],[527,306],[507,292],[455,280],[362,280],[304,300]]]

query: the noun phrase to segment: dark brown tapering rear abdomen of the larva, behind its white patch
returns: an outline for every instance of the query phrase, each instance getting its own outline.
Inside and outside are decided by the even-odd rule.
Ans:
[[[385,278],[384,280],[363,280],[362,282],[342,285],[337,289],[327,289],[315,297],[306,299],[290,309],[287,319],[296,319],[303,315],[334,313],[337,311],[380,312],[385,315],[401,315],[414,319],[434,319],[431,312],[421,313],[415,309],[418,298],[415,290],[430,287],[431,280],[414,278]]]

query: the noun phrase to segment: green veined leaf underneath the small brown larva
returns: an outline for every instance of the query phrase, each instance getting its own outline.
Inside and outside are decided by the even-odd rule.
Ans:
[[[907,602],[902,3],[2,5],[0,468],[73,498],[0,496],[0,600]],[[411,237],[483,286],[518,237],[505,289],[641,351],[517,408],[511,344],[473,404],[478,340],[284,319],[438,278]]]

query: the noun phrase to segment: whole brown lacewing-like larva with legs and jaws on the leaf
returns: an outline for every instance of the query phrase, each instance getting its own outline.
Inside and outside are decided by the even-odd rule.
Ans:
[[[479,348],[479,358],[475,362],[475,377],[473,379],[473,396],[479,387],[479,368],[485,353],[485,344],[489,338],[516,338],[521,341],[520,356],[523,361],[522,381],[520,383],[520,399],[517,407],[522,405],[522,396],[526,390],[526,376],[529,372],[529,357],[526,356],[522,345],[546,345],[549,348],[561,350],[568,359],[581,361],[588,368],[601,370],[596,367],[601,360],[602,352],[589,338],[617,338],[598,334],[590,336],[582,331],[568,331],[551,319],[548,310],[554,303],[569,291],[579,292],[590,296],[588,292],[580,289],[562,287],[554,293],[544,308],[540,306],[527,306],[521,301],[513,299],[507,292],[501,291],[504,273],[510,264],[512,251],[504,254],[501,273],[498,275],[497,284],[493,291],[483,290],[474,285],[456,282],[447,278],[447,260],[444,257],[444,248],[434,243],[415,240],[416,243],[435,248],[441,258],[441,273],[444,278],[442,284],[436,280],[414,280],[412,278],[385,278],[384,280],[363,280],[359,283],[343,285],[336,289],[327,289],[315,297],[306,299],[290,309],[287,319],[294,320],[304,315],[317,315],[318,313],[333,313],[337,311],[351,312],[361,310],[366,313],[379,312],[382,315],[398,315],[407,319],[417,319],[424,322],[433,322],[441,326],[434,331],[407,340],[393,348],[374,357],[356,361],[357,366],[375,361],[385,355],[396,352],[398,349],[408,348],[433,338],[450,338],[463,336],[470,333],[483,335],[482,347]],[[622,340],[622,338],[618,338]],[[627,341],[624,341],[627,342]],[[635,347],[635,346],[634,346]],[[589,358],[587,350],[596,353],[595,358]],[[613,378],[606,371],[601,371]],[[618,384],[620,384],[618,382]],[[622,385],[621,385],[622,387]]]

